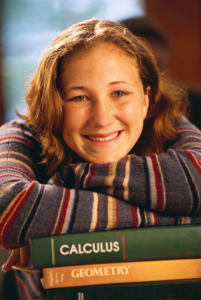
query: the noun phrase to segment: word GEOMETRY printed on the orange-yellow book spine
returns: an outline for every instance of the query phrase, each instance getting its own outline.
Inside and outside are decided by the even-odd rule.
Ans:
[[[111,275],[127,275],[129,274],[130,266],[116,266],[116,267],[103,267],[103,268],[86,268],[86,269],[73,269],[71,276],[73,278],[81,277],[98,277],[98,276],[111,276]]]

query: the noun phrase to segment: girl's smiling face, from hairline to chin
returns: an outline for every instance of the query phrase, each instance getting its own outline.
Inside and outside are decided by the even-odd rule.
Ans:
[[[61,73],[62,135],[76,161],[124,158],[139,139],[150,88],[144,94],[135,63],[119,47],[101,43],[75,55]]]

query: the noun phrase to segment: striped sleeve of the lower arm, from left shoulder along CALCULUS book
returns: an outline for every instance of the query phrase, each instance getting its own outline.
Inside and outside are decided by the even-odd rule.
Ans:
[[[51,185],[40,153],[40,143],[25,123],[11,122],[0,128],[0,245],[7,249],[53,234],[201,223],[200,216],[149,211],[98,188],[87,191]]]

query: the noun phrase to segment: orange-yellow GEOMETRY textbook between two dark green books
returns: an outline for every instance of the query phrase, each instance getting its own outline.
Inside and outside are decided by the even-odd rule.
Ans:
[[[200,278],[201,259],[177,259],[44,268],[42,283],[52,289]]]

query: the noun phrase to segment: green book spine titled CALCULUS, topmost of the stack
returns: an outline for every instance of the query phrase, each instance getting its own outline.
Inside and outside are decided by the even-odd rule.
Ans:
[[[201,226],[63,234],[31,240],[34,268],[201,257]]]

